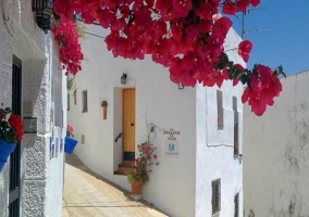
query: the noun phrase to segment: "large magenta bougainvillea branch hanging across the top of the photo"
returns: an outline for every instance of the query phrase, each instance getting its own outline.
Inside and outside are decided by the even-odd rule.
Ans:
[[[220,88],[224,80],[233,80],[234,85],[240,80],[249,89],[244,95],[249,95],[252,112],[261,115],[282,89],[277,79],[279,74],[284,75],[282,67],[274,72],[258,65],[249,71],[230,61],[223,43],[233,23],[219,15],[220,7],[222,13],[235,14],[259,3],[260,0],[55,0],[54,11],[63,22],[78,13],[84,23],[109,28],[104,41],[114,56],[143,60],[150,54],[153,62],[169,68],[173,82]],[[239,43],[238,54],[245,62],[251,48],[250,41]]]

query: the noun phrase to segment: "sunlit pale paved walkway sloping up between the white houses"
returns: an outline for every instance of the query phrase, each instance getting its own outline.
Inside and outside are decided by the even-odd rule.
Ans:
[[[63,217],[166,217],[90,171],[74,154],[65,157]]]

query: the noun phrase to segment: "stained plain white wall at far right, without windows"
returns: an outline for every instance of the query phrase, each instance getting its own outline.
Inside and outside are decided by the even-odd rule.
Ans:
[[[245,106],[244,209],[249,216],[309,213],[309,72],[281,79],[283,92],[261,117]]]

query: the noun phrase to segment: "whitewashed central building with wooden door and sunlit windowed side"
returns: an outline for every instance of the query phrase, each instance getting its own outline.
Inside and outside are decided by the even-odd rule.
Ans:
[[[67,123],[79,140],[78,157],[95,173],[131,191],[126,176],[119,173],[124,161],[137,156],[137,144],[146,141],[147,119],[160,165],[153,167],[143,197],[174,217],[231,217],[235,207],[235,216],[242,217],[243,87],[225,82],[221,89],[200,85],[181,89],[150,56],[144,61],[114,59],[101,38],[104,30],[91,25],[87,31],[90,35],[83,44],[87,61],[67,95]],[[239,41],[231,30],[225,46],[237,48]],[[228,55],[244,64],[236,51]],[[123,73],[125,85],[121,84]],[[103,100],[108,102],[107,119],[102,117]],[[174,149],[169,150],[169,144]]]

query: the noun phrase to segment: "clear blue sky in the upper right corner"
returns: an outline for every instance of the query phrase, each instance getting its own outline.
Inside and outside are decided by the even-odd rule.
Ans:
[[[309,69],[309,1],[261,0],[257,8],[245,16],[245,39],[254,43],[247,67],[261,63],[276,68],[282,65],[287,75]],[[239,21],[242,22],[242,15]],[[240,23],[232,17],[235,30],[240,35]]]

